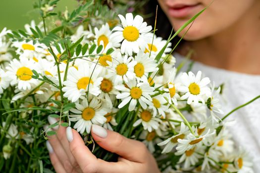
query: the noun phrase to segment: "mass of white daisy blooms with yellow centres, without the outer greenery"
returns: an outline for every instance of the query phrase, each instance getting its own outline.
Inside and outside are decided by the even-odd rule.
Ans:
[[[221,88],[215,88],[201,71],[178,71],[171,44],[156,37],[141,16],[118,17],[121,23],[114,28],[108,23],[89,30],[79,26],[69,39],[51,45],[37,40],[10,43],[5,38],[10,31],[4,29],[0,59],[9,63],[0,69],[0,94],[12,88],[11,102],[21,101],[18,109],[28,114],[50,110],[52,117],[65,117],[85,136],[93,124],[117,131],[127,126],[128,137],[143,141],[155,156],[174,153],[176,163],[169,159],[160,165],[165,172],[213,168],[252,172],[247,154],[242,149],[234,152],[234,142],[220,119]],[[29,28],[44,31],[42,25]],[[33,34],[26,30],[26,35]],[[12,58],[9,46],[18,58]],[[52,122],[49,129],[59,125],[60,121]],[[35,140],[14,124],[7,129],[10,140],[24,139],[28,144]],[[10,150],[9,144],[3,148],[5,159]]]

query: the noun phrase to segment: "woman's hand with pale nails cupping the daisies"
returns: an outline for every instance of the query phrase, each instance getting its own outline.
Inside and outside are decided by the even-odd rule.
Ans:
[[[47,141],[56,173],[159,173],[146,146],[117,132],[93,125],[91,134],[102,148],[118,154],[117,162],[97,159],[76,130],[59,127]]]

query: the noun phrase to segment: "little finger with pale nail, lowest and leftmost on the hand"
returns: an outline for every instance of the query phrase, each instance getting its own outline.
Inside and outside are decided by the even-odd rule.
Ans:
[[[52,165],[54,167],[54,170],[56,173],[66,173],[64,167],[62,166],[62,164],[60,163],[59,159],[57,158],[56,154],[54,153],[51,144],[49,143],[49,141],[46,142],[47,145],[47,149],[49,151],[50,154],[50,159],[52,162]]]

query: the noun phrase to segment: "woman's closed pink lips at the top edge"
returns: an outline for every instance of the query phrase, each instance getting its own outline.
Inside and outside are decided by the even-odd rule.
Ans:
[[[169,6],[168,12],[169,15],[175,18],[183,18],[186,16],[190,16],[191,14],[195,15],[197,8],[200,7],[200,3],[188,5],[188,4],[175,4],[173,6]]]

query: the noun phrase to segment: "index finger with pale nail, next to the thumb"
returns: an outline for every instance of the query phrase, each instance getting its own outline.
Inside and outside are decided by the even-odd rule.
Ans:
[[[70,151],[83,173],[117,173],[124,171],[125,163],[123,162],[112,163],[97,159],[97,157],[94,156],[85,145],[76,130],[67,127],[66,134],[69,141]]]

